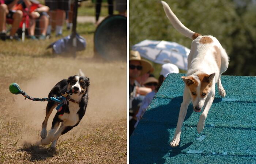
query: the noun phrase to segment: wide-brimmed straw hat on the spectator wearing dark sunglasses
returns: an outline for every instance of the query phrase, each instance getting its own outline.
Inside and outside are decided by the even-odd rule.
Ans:
[[[138,51],[130,51],[130,57],[129,57],[129,61],[139,61],[141,63],[142,66],[142,70],[141,70],[141,75],[147,73],[148,71],[153,72],[153,67],[151,65],[150,62],[148,62],[147,60],[141,59],[140,57],[140,53]]]

